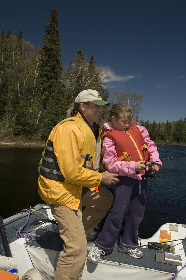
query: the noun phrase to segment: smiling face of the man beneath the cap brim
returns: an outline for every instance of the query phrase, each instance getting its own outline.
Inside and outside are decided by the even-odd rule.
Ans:
[[[101,113],[103,113],[103,111],[104,110],[102,105],[88,103],[88,107],[84,107],[83,115],[90,122],[90,124],[93,125],[94,122],[99,121]]]

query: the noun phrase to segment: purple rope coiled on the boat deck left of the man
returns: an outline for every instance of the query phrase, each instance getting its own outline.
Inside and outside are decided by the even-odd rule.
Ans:
[[[34,237],[33,237],[32,235],[29,235],[29,233],[32,232],[34,229],[29,229],[29,230],[26,230],[26,231],[22,230],[22,229],[25,227],[25,225],[27,225],[27,223],[28,223],[28,221],[29,221],[30,214],[31,214],[31,210],[30,210],[30,209],[23,209],[23,210],[22,210],[22,213],[29,213],[29,214],[28,214],[28,218],[27,218],[26,223],[16,232],[15,236],[16,236],[17,238],[24,238],[24,237],[25,237],[25,241],[26,241],[26,242],[32,242],[32,241],[35,241],[35,240],[39,240],[39,239],[41,239],[42,237],[48,235],[48,232],[46,232],[46,234],[40,236],[40,237],[37,238],[37,239],[34,239]],[[37,229],[40,229],[40,228],[41,228],[41,227],[39,227],[39,228],[37,228]]]

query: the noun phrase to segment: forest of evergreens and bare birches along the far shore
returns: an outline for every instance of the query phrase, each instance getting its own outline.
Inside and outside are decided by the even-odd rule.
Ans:
[[[44,143],[51,129],[66,117],[67,109],[84,89],[97,90],[104,100],[109,90],[107,69],[96,66],[91,55],[78,46],[77,53],[62,65],[58,24],[59,13],[53,7],[44,25],[44,45],[25,41],[22,27],[17,36],[4,27],[0,34],[0,142]],[[123,102],[133,108],[136,120],[145,126],[155,143],[186,145],[186,118],[156,123],[139,120],[143,95],[115,91],[112,103]],[[135,101],[135,102],[134,102]],[[137,104],[137,105],[136,105]],[[106,112],[107,109],[105,109]],[[103,114],[104,115],[104,114]],[[100,124],[102,123],[100,120]]]

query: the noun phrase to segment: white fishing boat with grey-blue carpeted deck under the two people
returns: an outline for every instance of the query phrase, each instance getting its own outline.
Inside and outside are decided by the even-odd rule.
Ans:
[[[58,256],[63,249],[63,241],[50,207],[37,204],[4,219],[3,223],[8,244],[1,242],[2,257],[8,258],[9,262],[13,258],[19,279],[53,280]],[[92,232],[93,239],[87,241],[87,256],[99,230],[99,226],[96,227]],[[140,250],[143,252],[141,259],[117,251],[116,242],[113,251],[101,256],[97,265],[86,259],[82,280],[186,280],[185,238],[185,224],[166,223],[152,237],[148,239],[138,237]],[[6,256],[9,249],[10,256]],[[33,270],[36,274],[31,275],[30,271]]]

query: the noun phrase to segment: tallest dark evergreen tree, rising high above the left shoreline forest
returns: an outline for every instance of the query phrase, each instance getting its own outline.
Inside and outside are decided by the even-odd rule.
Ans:
[[[62,62],[60,54],[60,35],[58,11],[54,6],[49,17],[48,25],[44,25],[45,34],[43,35],[44,46],[41,47],[41,67],[37,81],[37,90],[40,98],[38,120],[43,126],[42,134],[46,137],[56,120],[60,121],[63,113],[63,96],[62,96]],[[56,97],[61,99],[56,102]],[[55,111],[54,111],[55,109]],[[54,117],[55,114],[55,117]],[[37,121],[37,123],[39,123]]]

